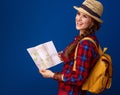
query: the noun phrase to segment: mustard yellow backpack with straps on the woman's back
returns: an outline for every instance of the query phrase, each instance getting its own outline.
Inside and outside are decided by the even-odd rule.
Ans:
[[[82,40],[90,40],[97,47],[93,39],[85,37]],[[77,46],[78,48],[78,46]],[[75,50],[75,58],[77,55],[77,48]],[[82,85],[82,90],[89,91],[93,94],[100,94],[105,89],[109,89],[112,84],[112,59],[109,54],[106,54],[107,48],[101,49],[100,45],[98,48],[100,58],[98,59],[95,66],[91,69],[88,78]],[[76,70],[76,61],[74,62],[73,70]]]

